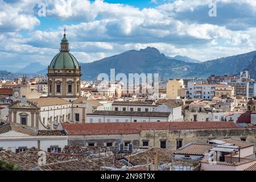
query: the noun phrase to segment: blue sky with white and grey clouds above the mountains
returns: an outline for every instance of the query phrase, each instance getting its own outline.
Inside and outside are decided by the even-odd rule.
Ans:
[[[255,22],[254,0],[0,0],[0,70],[48,65],[64,27],[82,63],[147,46],[205,61],[255,51]]]

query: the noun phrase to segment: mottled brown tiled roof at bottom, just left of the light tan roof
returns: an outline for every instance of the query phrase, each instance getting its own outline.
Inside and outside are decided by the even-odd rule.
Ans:
[[[147,164],[147,162],[151,162],[151,160],[155,160],[156,154],[158,154],[159,165],[171,162],[172,151],[164,148],[156,148],[156,147],[149,148],[148,150],[139,152],[137,154],[133,154],[130,156],[128,155],[125,157],[125,159],[127,161],[129,159],[129,161],[135,165],[142,165],[142,164]]]

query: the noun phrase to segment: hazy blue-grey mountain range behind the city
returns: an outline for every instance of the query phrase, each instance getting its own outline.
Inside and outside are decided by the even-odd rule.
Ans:
[[[130,50],[118,55],[105,57],[92,63],[80,63],[80,65],[83,74],[82,80],[93,80],[99,73],[109,74],[112,68],[115,68],[115,74],[159,73],[159,76],[164,78],[208,77],[212,74],[237,75],[240,71],[249,69],[251,76],[256,78],[256,70],[251,69],[252,64],[254,68],[256,67],[255,55],[256,51],[253,51],[201,62],[186,56],[168,57],[154,47],[147,47],[139,51]],[[41,64],[38,69],[34,68],[34,66],[34,64],[30,64],[25,67],[26,69],[22,69],[22,71],[36,71],[43,67],[44,69],[37,73],[47,72],[47,68]]]

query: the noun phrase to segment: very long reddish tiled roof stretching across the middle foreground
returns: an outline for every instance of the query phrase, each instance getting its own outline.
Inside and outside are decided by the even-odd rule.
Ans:
[[[61,123],[68,135],[139,134],[142,130],[242,129],[233,122]]]

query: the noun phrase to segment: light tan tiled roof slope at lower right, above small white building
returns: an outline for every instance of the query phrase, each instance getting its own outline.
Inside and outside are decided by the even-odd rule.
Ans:
[[[187,146],[181,147],[174,152],[174,154],[184,154],[184,155],[204,155],[208,152],[214,145],[205,143],[190,143]]]

